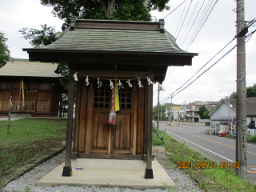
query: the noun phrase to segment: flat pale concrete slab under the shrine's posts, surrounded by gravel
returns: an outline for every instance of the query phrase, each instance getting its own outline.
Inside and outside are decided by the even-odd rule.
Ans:
[[[161,188],[174,186],[174,182],[157,160],[152,162],[154,179],[145,179],[143,170],[76,170],[73,166],[71,177],[62,177],[64,163],[52,170],[37,184],[46,186],[122,186],[135,189]]]

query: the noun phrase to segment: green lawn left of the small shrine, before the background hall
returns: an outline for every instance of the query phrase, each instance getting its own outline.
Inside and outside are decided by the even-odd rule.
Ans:
[[[23,118],[10,122],[9,134],[7,123],[0,122],[0,175],[66,139],[65,120]]]

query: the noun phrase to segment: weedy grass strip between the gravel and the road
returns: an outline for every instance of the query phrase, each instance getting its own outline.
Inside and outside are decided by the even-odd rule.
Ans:
[[[156,132],[163,136],[164,131],[157,130],[153,126],[153,143],[158,143],[160,140]],[[158,141],[158,142],[156,142]],[[212,164],[211,169],[209,168],[210,162],[214,162],[210,159],[206,159],[202,154],[190,149],[186,146],[186,143],[177,142],[174,138],[171,138],[170,135],[166,134],[164,142],[161,142],[163,146],[166,146],[166,151],[171,154],[168,155],[168,163],[171,168],[179,168],[190,175],[192,178],[198,180],[199,186],[206,191],[256,191],[254,185],[250,184],[245,180],[238,178],[234,168],[229,169],[221,167],[219,162],[216,162],[216,167]],[[183,163],[182,163],[183,162]],[[186,163],[189,162],[189,163]],[[192,168],[190,163],[192,162]],[[196,165],[195,166],[195,162]],[[204,162],[204,166],[202,166]],[[199,163],[199,164],[198,164]],[[189,165],[187,167],[187,165]],[[198,168],[199,167],[199,168]],[[202,168],[203,167],[203,168]]]

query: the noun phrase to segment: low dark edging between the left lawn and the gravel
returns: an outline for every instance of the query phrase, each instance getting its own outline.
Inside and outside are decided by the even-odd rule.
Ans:
[[[29,160],[14,166],[5,174],[0,176],[0,191],[8,182],[19,178],[22,176],[22,174],[26,174],[26,172],[32,170],[35,166],[38,166],[38,164],[45,162],[49,158],[53,158],[55,155],[60,154],[63,150],[65,150],[65,146],[57,146],[51,148],[50,150],[43,151],[42,154],[38,154],[34,158],[30,158]]]

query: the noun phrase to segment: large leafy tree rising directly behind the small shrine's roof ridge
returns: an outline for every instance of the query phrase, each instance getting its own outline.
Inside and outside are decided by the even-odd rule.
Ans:
[[[169,10],[169,0],[41,0],[44,6],[53,6],[54,17],[64,19],[62,30],[70,26],[70,18],[150,21],[150,10]]]

